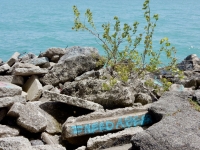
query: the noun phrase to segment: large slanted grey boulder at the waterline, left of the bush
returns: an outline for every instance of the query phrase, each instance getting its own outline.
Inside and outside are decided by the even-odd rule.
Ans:
[[[72,47],[66,50],[58,63],[40,81],[47,85],[58,85],[74,80],[77,76],[102,66],[97,66],[100,56],[97,49]]]

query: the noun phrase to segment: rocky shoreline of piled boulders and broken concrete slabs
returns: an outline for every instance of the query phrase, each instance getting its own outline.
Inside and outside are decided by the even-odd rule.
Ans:
[[[132,143],[133,150],[200,149],[200,59],[178,64],[179,80],[164,70],[147,76],[173,84],[163,95],[141,81],[102,84],[109,70],[91,47],[50,48],[39,56],[15,52],[0,61],[0,149],[96,150]],[[154,95],[152,95],[154,93]]]

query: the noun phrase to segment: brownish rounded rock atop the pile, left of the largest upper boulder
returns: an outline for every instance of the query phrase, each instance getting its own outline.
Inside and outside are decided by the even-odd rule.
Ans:
[[[41,53],[38,57],[47,57],[50,61],[57,63],[59,58],[65,54],[63,48],[49,48],[44,53]],[[57,58],[58,57],[58,58]]]

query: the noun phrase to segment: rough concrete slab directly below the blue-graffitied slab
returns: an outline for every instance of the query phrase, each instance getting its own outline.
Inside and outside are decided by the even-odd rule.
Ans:
[[[143,129],[141,127],[131,127],[117,133],[109,133],[104,136],[96,136],[88,140],[87,149],[105,149],[117,145],[128,144],[130,143],[131,137],[134,134],[142,131]]]

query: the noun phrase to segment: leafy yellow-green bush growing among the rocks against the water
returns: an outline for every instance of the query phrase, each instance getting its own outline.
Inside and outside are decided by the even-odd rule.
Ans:
[[[73,30],[86,30],[94,35],[98,41],[101,42],[103,49],[105,50],[105,67],[110,68],[110,74],[113,76],[110,83],[104,83],[103,88],[109,90],[114,86],[112,80],[116,83],[116,80],[122,82],[128,81],[131,77],[133,79],[142,79],[145,75],[150,73],[159,72],[163,67],[165,70],[170,71],[172,74],[181,75],[181,72],[176,67],[177,59],[175,57],[176,49],[171,47],[168,38],[160,40],[160,49],[155,51],[153,49],[153,34],[158,21],[158,14],[151,17],[149,0],[145,0],[143,4],[144,18],[146,25],[144,26],[144,32],[137,33],[138,22],[134,22],[132,25],[127,23],[121,25],[117,16],[114,17],[115,24],[113,27],[110,23],[102,25],[103,34],[100,35],[95,27],[92,12],[87,9],[85,12],[85,18],[87,19],[87,25],[81,21],[80,12],[76,6],[73,6],[74,11],[74,26]],[[124,48],[121,48],[123,45]],[[144,48],[138,50],[138,45],[142,44]],[[121,46],[121,47],[120,47]],[[169,60],[168,64],[164,64],[160,56],[164,53]],[[102,63],[102,62],[101,62]],[[117,75],[113,74],[116,72]],[[162,80],[163,90],[168,90],[171,83],[167,80]],[[150,81],[146,82],[147,86],[154,86]],[[156,86],[154,86],[156,88]]]

